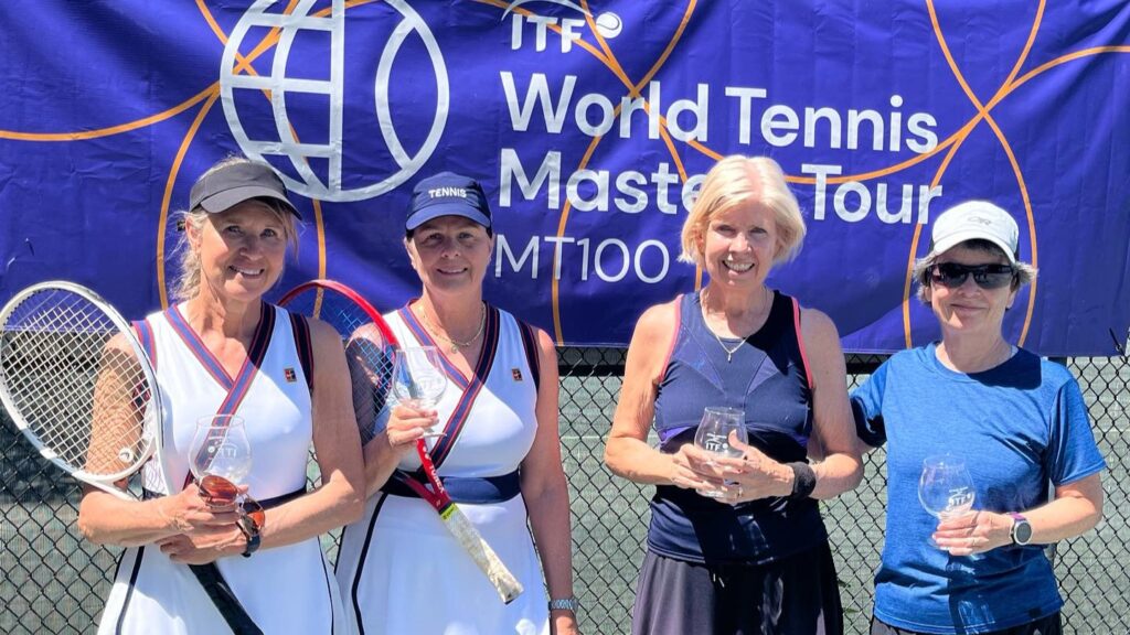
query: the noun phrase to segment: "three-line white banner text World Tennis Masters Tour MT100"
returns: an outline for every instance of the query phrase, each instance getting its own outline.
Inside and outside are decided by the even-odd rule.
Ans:
[[[544,73],[532,73],[519,81],[512,72],[501,71],[499,78],[516,132],[539,136],[581,132],[590,138],[620,139],[646,134],[647,139],[660,139],[661,127],[666,127],[676,141],[703,145],[711,141],[710,103],[718,96],[707,84],[698,84],[693,98],[668,104],[659,81],[649,82],[638,97],[625,96],[614,102],[601,93],[580,93],[577,78],[571,75],[556,82]],[[724,87],[721,98],[731,102],[727,112],[737,114],[737,121],[727,122],[725,132],[736,132],[739,146],[764,142],[784,148],[800,143],[805,148],[823,146],[889,154],[906,150],[927,154],[938,146],[938,122],[933,115],[904,113],[899,95],[892,95],[887,99],[889,107],[883,112],[796,108],[773,103],[765,88],[741,86]],[[732,147],[733,141],[727,139],[724,145]],[[549,211],[560,211],[567,201],[579,212],[640,215],[653,210],[677,215],[690,209],[705,179],[705,174],[687,174],[684,181],[667,162],[659,162],[649,173],[599,168],[568,173],[563,168],[562,153],[555,149],[546,149],[538,156],[520,156],[516,148],[510,147],[499,153],[498,205],[503,208],[541,199]],[[927,225],[930,202],[942,194],[940,185],[843,179],[841,165],[805,163],[800,172],[810,184],[794,186],[812,189],[809,218],[814,221],[861,223],[871,218],[887,225]],[[515,244],[504,235],[497,238],[496,277],[510,270],[529,271],[532,278],[549,273],[560,279],[562,263],[579,261],[580,270],[571,271],[570,277],[582,281],[594,277],[617,282],[631,277],[657,284],[666,278],[672,259],[667,245],[655,240],[631,244],[617,237],[532,236]],[[553,263],[551,271],[541,270],[542,263]]]

